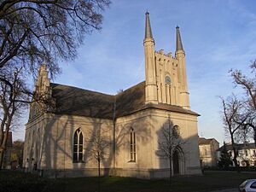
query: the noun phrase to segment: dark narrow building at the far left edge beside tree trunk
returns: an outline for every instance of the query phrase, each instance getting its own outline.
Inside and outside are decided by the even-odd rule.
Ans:
[[[3,154],[3,169],[10,169],[11,168],[11,152],[13,146],[13,134],[9,131],[6,143],[6,150]]]

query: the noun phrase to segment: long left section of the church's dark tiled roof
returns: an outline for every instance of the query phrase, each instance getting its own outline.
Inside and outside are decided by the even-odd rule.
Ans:
[[[113,96],[63,84],[50,85],[55,98],[55,113],[113,118]]]

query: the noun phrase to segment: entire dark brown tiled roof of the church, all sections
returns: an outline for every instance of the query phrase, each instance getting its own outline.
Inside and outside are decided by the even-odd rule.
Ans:
[[[102,119],[122,117],[148,108],[167,110],[177,113],[199,115],[190,110],[168,104],[145,105],[145,82],[136,84],[116,96],[96,91],[83,90],[63,84],[50,84],[52,96],[55,98],[55,113],[73,114]],[[115,114],[114,114],[114,108]]]

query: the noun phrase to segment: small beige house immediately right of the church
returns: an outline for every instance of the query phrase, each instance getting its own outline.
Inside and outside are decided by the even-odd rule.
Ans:
[[[219,143],[214,138],[198,138],[201,166],[217,166],[218,158],[216,150]]]

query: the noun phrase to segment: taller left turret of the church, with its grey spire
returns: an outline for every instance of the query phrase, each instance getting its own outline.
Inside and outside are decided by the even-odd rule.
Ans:
[[[146,26],[144,38],[144,53],[145,53],[145,75],[146,75],[146,104],[158,103],[157,85],[154,63],[154,38],[151,31],[149,13],[146,13]]]

